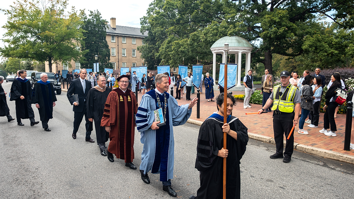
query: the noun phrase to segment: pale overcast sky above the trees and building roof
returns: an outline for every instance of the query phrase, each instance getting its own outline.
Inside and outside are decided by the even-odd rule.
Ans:
[[[116,18],[116,25],[124,25],[129,27],[140,28],[140,18],[146,15],[146,10],[153,0],[68,0],[68,8],[71,10],[75,6],[76,10],[85,9],[86,14],[89,10],[98,10],[101,12],[102,18],[110,23],[110,18]],[[10,9],[13,1],[2,1],[0,4],[1,9]],[[2,38],[6,30],[2,28],[6,24],[7,15],[0,11],[0,38]],[[0,46],[3,47],[4,43],[0,41]]]

